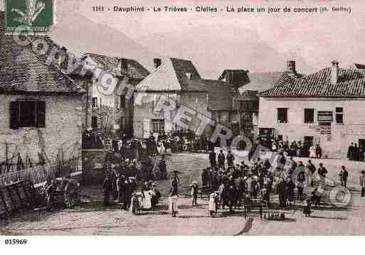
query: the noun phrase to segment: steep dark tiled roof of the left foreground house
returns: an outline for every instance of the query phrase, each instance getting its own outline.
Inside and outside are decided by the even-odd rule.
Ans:
[[[0,23],[4,24],[1,14],[4,13],[0,12]],[[46,65],[46,55],[18,45],[13,36],[4,35],[4,30],[0,33],[0,92],[85,92],[59,67]],[[51,41],[44,36],[38,38]]]

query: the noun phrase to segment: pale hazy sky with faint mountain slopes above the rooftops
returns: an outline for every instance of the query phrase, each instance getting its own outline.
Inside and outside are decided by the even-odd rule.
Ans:
[[[350,6],[351,13],[92,11],[92,6],[100,5],[111,9],[113,6],[217,6],[223,9],[226,6],[327,6],[329,9]],[[128,57],[140,60],[149,69],[154,56],[192,60],[207,78],[218,77],[224,69],[280,71],[285,69],[286,60],[295,60],[297,70],[302,73],[328,67],[332,60],[338,60],[342,67],[365,63],[364,1],[58,0],[57,15],[60,28],[56,28],[55,38],[76,53],[92,50],[121,56],[127,54],[134,42],[137,47],[129,50],[133,54]],[[62,26],[65,17],[72,20],[73,25],[68,22]],[[73,17],[78,18],[73,20]],[[98,38],[101,33],[94,31],[95,40],[85,36],[88,42],[78,47],[80,43],[75,43],[75,36],[70,36],[68,26],[80,26],[82,39],[85,28],[92,31],[95,24],[111,28],[110,33],[120,33],[123,38],[110,36],[105,40]],[[139,51],[144,54],[139,55]]]

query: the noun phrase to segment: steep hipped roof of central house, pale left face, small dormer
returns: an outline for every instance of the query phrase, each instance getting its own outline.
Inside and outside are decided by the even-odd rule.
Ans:
[[[167,58],[136,87],[137,91],[144,88],[153,92],[206,92],[206,85],[193,63],[177,58]]]

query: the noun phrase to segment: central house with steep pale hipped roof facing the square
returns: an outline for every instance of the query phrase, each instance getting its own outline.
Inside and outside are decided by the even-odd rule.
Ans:
[[[147,94],[149,99],[139,104],[134,103],[134,136],[148,137],[150,133],[169,133],[181,130],[181,126],[173,124],[176,110],[181,106],[189,107],[204,116],[211,118],[208,112],[209,81],[201,79],[199,72],[189,60],[167,58],[163,63],[154,60],[155,70],[136,87],[134,99]],[[172,118],[164,118],[164,111],[157,112],[156,104],[159,97],[167,97],[176,102],[176,110],[171,111]],[[199,119],[193,117],[189,130],[196,130]]]

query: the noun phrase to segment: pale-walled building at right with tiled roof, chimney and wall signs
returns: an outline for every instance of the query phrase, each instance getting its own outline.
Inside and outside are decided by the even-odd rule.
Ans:
[[[346,158],[350,143],[365,146],[365,70],[330,67],[258,94],[260,132],[284,141],[319,144],[323,155]]]

